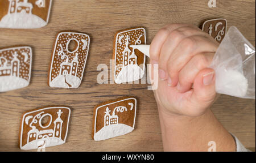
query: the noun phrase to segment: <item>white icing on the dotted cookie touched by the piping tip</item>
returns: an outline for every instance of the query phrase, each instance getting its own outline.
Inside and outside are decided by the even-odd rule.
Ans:
[[[123,33],[126,32],[130,32],[130,31],[137,31],[143,29],[144,31],[144,40],[146,43],[146,35],[145,35],[145,29],[144,28],[136,28],[136,29],[130,29],[128,31],[123,31],[117,34],[116,40],[115,40],[115,83],[117,84],[121,84],[121,83],[126,83],[126,82],[131,82],[131,81],[135,81],[135,80],[139,80],[143,77],[144,75],[144,68],[145,68],[145,59],[146,57],[144,57],[144,62],[143,62],[143,68],[139,67],[137,65],[137,55],[135,55],[134,53],[134,48],[132,47],[133,45],[129,45],[129,40],[130,40],[130,34],[126,35],[126,37],[123,35]],[[119,38],[118,36],[121,35]],[[138,36],[138,35],[137,35]],[[137,37],[137,40],[135,41],[134,45],[137,44],[141,44],[141,40],[140,38],[143,35],[139,35]],[[122,65],[117,65],[116,64],[116,58],[117,58],[117,44],[120,44],[120,42],[122,42],[120,39],[125,37],[125,49],[123,50],[122,54],[123,54],[123,60],[122,60]],[[134,40],[134,38],[133,38]],[[122,44],[121,44],[122,45]],[[131,52],[131,50],[128,47],[133,48],[133,52]],[[131,53],[131,54],[130,54]],[[121,68],[121,71],[119,71],[118,75],[116,75],[116,71],[119,70]]]

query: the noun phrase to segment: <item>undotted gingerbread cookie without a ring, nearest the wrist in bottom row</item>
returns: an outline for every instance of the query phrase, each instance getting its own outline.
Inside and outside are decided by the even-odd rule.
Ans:
[[[97,105],[93,113],[92,138],[96,141],[125,135],[134,130],[137,100],[123,97]]]

